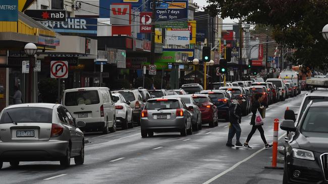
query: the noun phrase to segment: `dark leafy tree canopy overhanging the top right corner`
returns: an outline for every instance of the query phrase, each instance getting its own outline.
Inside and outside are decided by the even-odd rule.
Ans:
[[[320,31],[328,23],[328,0],[207,0],[206,11],[222,18],[273,28],[272,37],[295,48],[293,62],[312,67],[328,63],[328,42]]]

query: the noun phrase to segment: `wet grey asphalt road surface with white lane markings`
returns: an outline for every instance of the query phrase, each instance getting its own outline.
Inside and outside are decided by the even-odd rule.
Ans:
[[[263,126],[268,142],[272,142],[274,119],[283,120],[287,107],[297,112],[304,94],[269,106]],[[250,117],[242,118],[242,143],[251,129]],[[140,127],[87,134],[84,165],[75,166],[72,159],[67,169],[59,162],[21,162],[13,168],[5,162],[0,183],[282,183],[282,171],[264,169],[270,164],[271,149],[263,149],[259,133],[249,142],[252,149],[230,148],[228,125],[203,125],[186,137],[155,133],[141,138]],[[279,137],[284,133],[280,130]]]

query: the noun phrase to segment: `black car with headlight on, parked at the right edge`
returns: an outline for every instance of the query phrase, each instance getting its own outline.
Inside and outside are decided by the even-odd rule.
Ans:
[[[289,116],[286,117],[287,111]],[[311,101],[297,126],[291,110],[280,128],[290,131],[285,145],[283,183],[328,183],[328,102]],[[293,117],[294,116],[294,117]]]

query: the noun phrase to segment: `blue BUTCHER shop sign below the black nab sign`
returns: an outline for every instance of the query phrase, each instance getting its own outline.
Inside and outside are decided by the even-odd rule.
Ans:
[[[81,33],[97,35],[97,19],[67,18],[66,22],[40,21],[44,26],[58,33]]]

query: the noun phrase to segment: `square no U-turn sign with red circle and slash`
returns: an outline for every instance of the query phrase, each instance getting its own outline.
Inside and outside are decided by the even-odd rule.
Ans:
[[[68,61],[51,61],[50,63],[51,78],[68,77]]]

